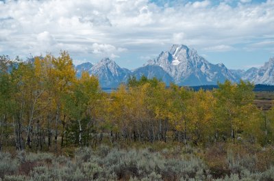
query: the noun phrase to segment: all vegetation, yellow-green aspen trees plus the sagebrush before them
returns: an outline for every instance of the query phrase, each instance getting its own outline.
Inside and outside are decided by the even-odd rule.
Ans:
[[[274,109],[253,89],[133,76],[106,93],[66,51],[0,56],[0,180],[274,180]]]

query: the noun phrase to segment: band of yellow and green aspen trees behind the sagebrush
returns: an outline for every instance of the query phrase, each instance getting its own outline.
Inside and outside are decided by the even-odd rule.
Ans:
[[[103,138],[269,144],[274,109],[264,112],[253,105],[253,89],[249,82],[225,81],[219,89],[194,91],[142,76],[107,94],[96,76],[83,72],[77,79],[66,51],[16,66],[0,56],[0,150],[97,146]]]

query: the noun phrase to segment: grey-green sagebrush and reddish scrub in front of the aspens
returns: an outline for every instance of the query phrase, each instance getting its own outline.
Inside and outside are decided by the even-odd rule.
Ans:
[[[145,149],[109,148],[51,153],[0,153],[0,180],[274,180],[273,150],[215,143],[207,150],[188,145]],[[164,143],[166,147],[166,143]],[[157,150],[155,150],[157,148]],[[64,156],[69,154],[70,156]]]

